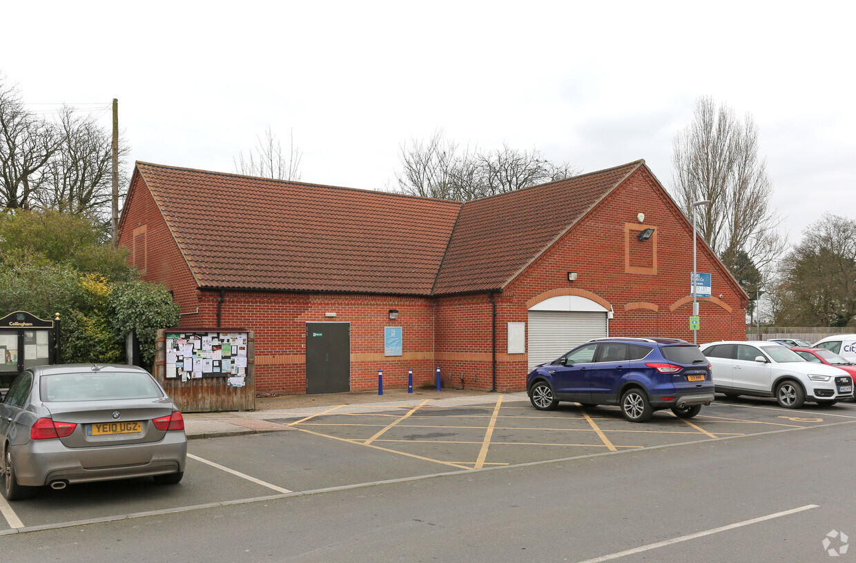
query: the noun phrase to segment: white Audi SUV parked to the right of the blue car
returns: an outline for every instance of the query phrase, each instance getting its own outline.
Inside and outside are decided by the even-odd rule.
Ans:
[[[800,408],[806,400],[835,405],[853,397],[853,377],[831,365],[805,361],[772,342],[721,341],[703,344],[713,366],[717,393],[729,397],[776,397],[780,406]]]

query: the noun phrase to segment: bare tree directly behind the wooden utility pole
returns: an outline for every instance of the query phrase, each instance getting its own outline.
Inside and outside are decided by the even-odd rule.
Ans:
[[[42,173],[39,191],[33,194],[42,209],[73,215],[105,215],[112,199],[111,133],[98,126],[92,114],[80,115],[63,106],[56,123],[62,141]],[[120,142],[120,163],[128,156],[127,143]],[[127,171],[120,167],[121,183]]]

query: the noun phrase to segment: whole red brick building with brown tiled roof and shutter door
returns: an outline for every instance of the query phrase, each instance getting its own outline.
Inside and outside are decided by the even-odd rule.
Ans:
[[[590,338],[693,340],[693,226],[642,160],[467,203],[137,163],[120,230],[181,326],[255,331],[259,392],[519,390]],[[743,338],[700,239],[698,271],[698,341]]]

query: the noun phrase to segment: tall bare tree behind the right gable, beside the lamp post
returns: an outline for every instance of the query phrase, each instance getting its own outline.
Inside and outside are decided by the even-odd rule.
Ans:
[[[675,201],[690,220],[698,213],[699,234],[735,276],[744,274],[740,264],[769,270],[786,243],[752,116],[741,122],[728,106],[698,98],[693,122],[675,136],[672,166]],[[710,204],[693,209],[703,199]]]

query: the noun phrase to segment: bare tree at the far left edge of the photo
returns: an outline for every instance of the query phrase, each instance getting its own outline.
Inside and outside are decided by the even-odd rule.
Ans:
[[[56,127],[25,108],[17,86],[0,78],[0,204],[27,208],[62,144]]]

